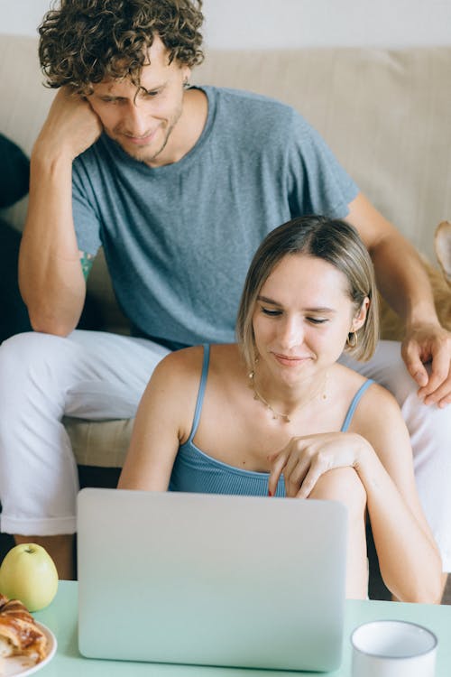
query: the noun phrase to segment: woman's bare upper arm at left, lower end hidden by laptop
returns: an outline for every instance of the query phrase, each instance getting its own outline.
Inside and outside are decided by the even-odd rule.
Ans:
[[[155,368],[138,407],[119,489],[168,489],[180,441],[191,429],[201,362],[201,349],[188,348]]]

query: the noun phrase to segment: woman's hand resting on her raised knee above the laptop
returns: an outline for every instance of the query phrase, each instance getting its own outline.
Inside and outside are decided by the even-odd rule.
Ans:
[[[368,447],[369,443],[354,432],[293,437],[286,447],[268,457],[272,461],[268,493],[274,496],[283,473],[286,496],[308,498],[318,478],[328,470],[358,468]]]

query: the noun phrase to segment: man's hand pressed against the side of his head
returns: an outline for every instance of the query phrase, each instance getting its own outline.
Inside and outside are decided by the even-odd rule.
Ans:
[[[47,157],[63,153],[72,162],[94,144],[101,133],[100,119],[87,99],[69,87],[61,87],[53,99],[33,152],[42,151]]]

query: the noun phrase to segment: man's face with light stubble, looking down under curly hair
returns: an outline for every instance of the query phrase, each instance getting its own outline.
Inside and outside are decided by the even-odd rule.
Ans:
[[[188,66],[169,63],[168,51],[155,36],[149,52],[150,64],[143,67],[141,85],[128,79],[106,80],[93,85],[88,101],[99,116],[106,134],[125,153],[150,166],[176,162],[170,136],[183,109],[183,84]]]

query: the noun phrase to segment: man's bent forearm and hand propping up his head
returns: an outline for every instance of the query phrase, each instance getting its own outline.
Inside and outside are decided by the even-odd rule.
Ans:
[[[84,254],[72,218],[72,162],[101,130],[87,101],[61,88],[32,150],[19,284],[37,331],[66,336],[83,310]]]

